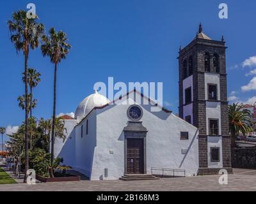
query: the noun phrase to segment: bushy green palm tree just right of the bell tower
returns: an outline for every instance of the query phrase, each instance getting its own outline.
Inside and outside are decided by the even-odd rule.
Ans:
[[[243,110],[243,104],[233,103],[228,106],[229,131],[231,134],[231,147],[236,147],[236,136],[239,133],[246,135],[252,131],[253,123],[250,111]]]

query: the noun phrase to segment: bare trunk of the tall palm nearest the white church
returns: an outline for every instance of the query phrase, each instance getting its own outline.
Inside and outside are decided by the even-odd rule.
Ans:
[[[51,138],[51,164],[54,159],[54,136],[56,120],[56,81],[57,81],[57,64],[54,65],[54,96],[53,96],[53,114],[52,114],[52,138]]]

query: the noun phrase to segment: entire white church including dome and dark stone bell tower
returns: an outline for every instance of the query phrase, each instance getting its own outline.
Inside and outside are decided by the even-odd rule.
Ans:
[[[95,91],[65,119],[67,138],[56,138],[55,156],[90,180],[161,174],[152,168],[231,172],[225,42],[200,27],[179,54],[179,117],[136,90],[115,101]]]

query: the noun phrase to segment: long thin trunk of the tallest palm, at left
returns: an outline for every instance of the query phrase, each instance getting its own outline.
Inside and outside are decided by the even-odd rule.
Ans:
[[[24,183],[27,181],[27,171],[29,169],[29,157],[28,157],[28,45],[26,45],[27,52],[25,52],[25,176]]]

